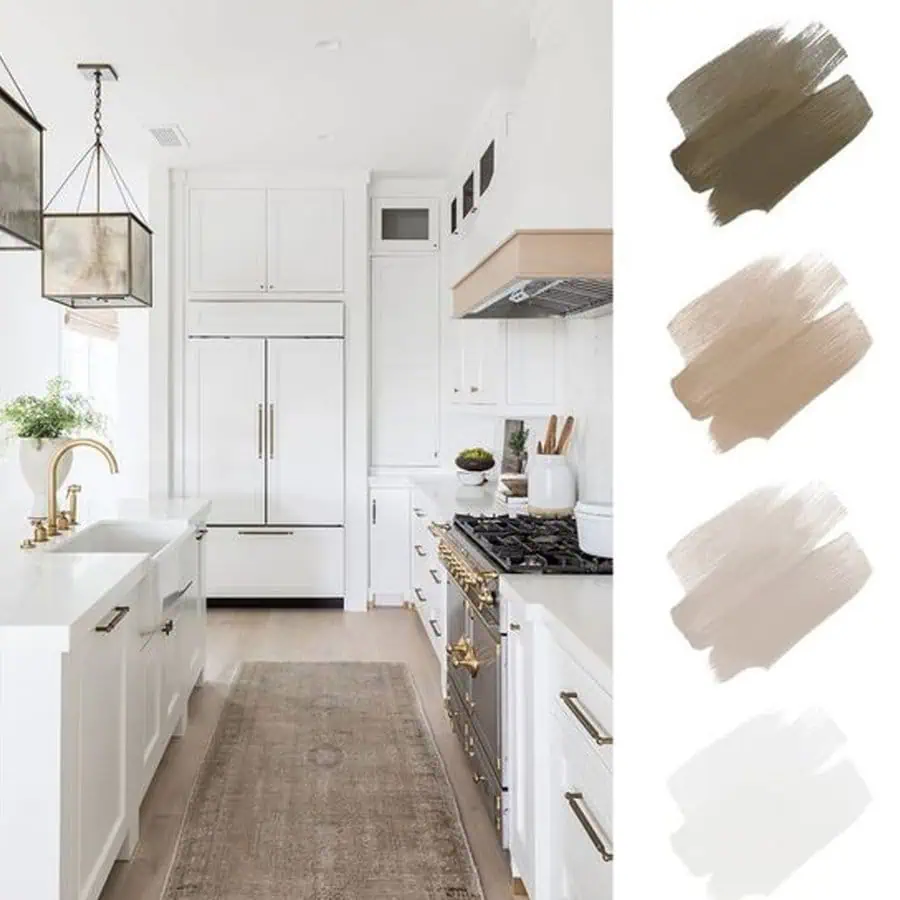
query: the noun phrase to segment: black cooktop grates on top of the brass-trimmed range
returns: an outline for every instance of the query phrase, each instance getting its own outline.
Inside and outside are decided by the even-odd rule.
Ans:
[[[457,515],[454,523],[510,574],[612,575],[611,559],[589,556],[578,546],[572,518]]]

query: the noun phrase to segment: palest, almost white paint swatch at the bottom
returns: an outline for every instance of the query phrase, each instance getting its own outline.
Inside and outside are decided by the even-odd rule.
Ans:
[[[672,847],[711,897],[769,896],[863,814],[871,794],[845,744],[822,713],[761,715],[672,776]]]

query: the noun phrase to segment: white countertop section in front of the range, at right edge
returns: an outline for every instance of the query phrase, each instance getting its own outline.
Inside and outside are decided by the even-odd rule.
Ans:
[[[501,597],[517,597],[612,693],[612,575],[501,575]]]

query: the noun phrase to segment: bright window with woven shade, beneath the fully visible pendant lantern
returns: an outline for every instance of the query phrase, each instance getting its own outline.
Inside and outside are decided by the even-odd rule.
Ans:
[[[114,440],[118,412],[119,324],[115,310],[69,310],[62,332],[61,371],[107,418]]]

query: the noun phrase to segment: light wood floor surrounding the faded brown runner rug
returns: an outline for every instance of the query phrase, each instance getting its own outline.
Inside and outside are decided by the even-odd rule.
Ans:
[[[211,610],[206,681],[191,699],[187,733],[173,739],[147,793],[137,855],[129,863],[116,863],[100,900],[160,900],[194,777],[235,666],[243,660],[407,663],[459,802],[485,900],[509,898],[509,866],[450,731],[438,663],[415,613]]]

